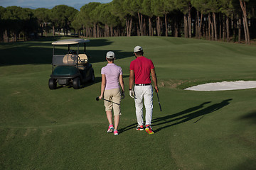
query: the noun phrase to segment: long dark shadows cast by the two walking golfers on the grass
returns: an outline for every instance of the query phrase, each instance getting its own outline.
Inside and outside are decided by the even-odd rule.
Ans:
[[[154,132],[156,133],[165,128],[169,128],[171,126],[178,125],[181,123],[186,123],[189,120],[200,117],[193,122],[193,123],[198,123],[198,121],[200,121],[205,115],[207,115],[209,113],[213,113],[215,111],[218,111],[220,108],[223,108],[225,106],[228,106],[228,104],[230,104],[230,101],[232,101],[232,100],[233,100],[232,98],[229,98],[220,103],[216,103],[211,106],[208,106],[207,108],[203,108],[206,104],[211,103],[211,101],[207,101],[207,102],[202,103],[199,106],[195,106],[193,108],[188,108],[185,111],[181,111],[174,115],[166,115],[161,118],[154,118],[151,122],[152,126],[154,126]],[[199,110],[199,109],[201,109],[201,110]],[[130,130],[130,129],[134,129],[136,127],[136,125],[137,125],[137,123],[134,123],[132,125],[129,125],[125,128],[120,129],[119,131],[124,132],[124,131]],[[164,125],[164,126],[161,128],[155,128],[159,125]]]

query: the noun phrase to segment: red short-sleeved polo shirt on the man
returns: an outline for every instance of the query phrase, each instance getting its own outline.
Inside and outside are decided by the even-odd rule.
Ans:
[[[146,57],[137,57],[130,64],[130,70],[134,70],[135,84],[150,84],[151,69],[154,69],[154,64]]]

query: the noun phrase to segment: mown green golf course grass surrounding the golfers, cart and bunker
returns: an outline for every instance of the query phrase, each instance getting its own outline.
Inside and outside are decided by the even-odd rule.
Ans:
[[[56,38],[58,39],[58,38]],[[0,169],[255,169],[256,89],[184,91],[256,80],[256,47],[183,38],[92,39],[95,84],[50,91],[53,38],[0,45]],[[141,45],[159,79],[154,135],[135,130],[129,63]],[[107,134],[100,69],[108,50],[124,72],[120,134]]]

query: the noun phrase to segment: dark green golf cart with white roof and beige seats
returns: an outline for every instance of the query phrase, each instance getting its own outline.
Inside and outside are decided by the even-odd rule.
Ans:
[[[88,62],[85,53],[87,42],[90,40],[67,39],[52,42],[53,70],[48,82],[49,89],[56,89],[57,84],[80,89],[81,84],[95,81],[92,64]],[[80,47],[82,45],[83,47]],[[63,50],[66,47],[68,51]]]

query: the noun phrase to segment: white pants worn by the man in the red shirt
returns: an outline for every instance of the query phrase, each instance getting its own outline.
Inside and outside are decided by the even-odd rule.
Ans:
[[[153,114],[153,88],[152,86],[134,86],[135,108],[138,125],[143,125],[143,98],[146,108],[146,125],[151,125]]]

